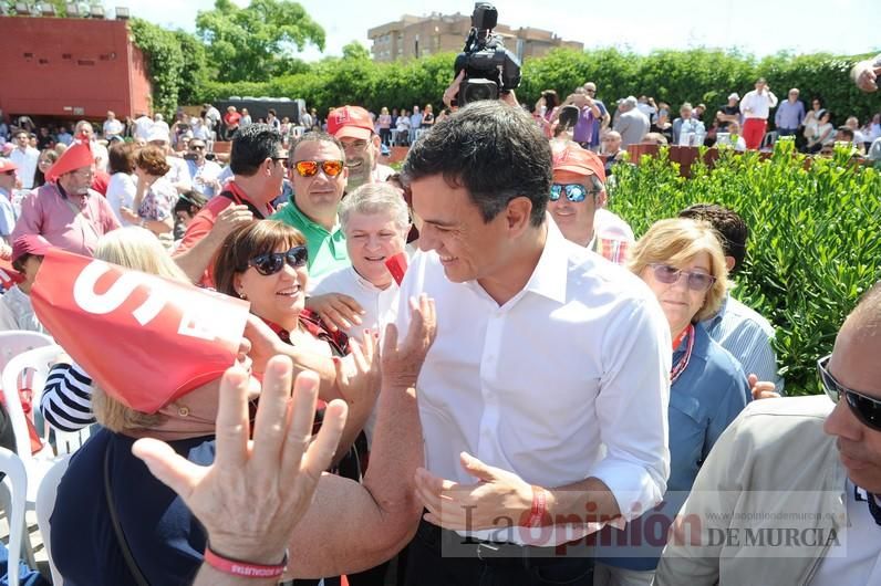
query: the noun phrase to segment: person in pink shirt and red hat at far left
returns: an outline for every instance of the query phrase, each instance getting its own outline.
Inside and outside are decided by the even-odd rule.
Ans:
[[[65,150],[46,172],[46,184],[21,202],[12,240],[40,234],[53,247],[91,257],[99,238],[120,228],[107,200],[90,188],[94,174],[89,145]]]

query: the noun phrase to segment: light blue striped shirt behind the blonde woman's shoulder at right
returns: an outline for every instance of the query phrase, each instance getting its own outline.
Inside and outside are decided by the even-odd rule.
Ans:
[[[728,294],[718,313],[701,324],[740,362],[745,374],[774,383],[775,390],[782,394],[784,379],[777,374],[777,355],[771,346],[774,327],[767,320]]]

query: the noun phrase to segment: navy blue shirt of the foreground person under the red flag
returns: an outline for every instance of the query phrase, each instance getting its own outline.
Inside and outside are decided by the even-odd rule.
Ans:
[[[149,584],[189,585],[203,562],[206,533],[184,501],[132,454],[134,438],[101,429],[71,458],[59,484],[52,557],[68,586],[134,584],[104,492],[104,452],[116,513],[132,556]],[[214,438],[168,442],[190,462],[214,462]]]

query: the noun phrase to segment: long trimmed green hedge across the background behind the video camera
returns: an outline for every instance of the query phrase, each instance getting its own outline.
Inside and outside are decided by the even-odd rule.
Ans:
[[[757,61],[736,52],[706,49],[655,51],[649,55],[618,49],[561,49],[525,63],[518,96],[522,102],[535,103],[542,90],[554,88],[566,95],[577,85],[594,81],[599,97],[607,103],[645,94],[668,102],[674,109],[690,101],[703,102],[715,112],[713,108],[722,106],[730,92],[743,95],[753,88],[758,76],[765,76],[780,100],[786,98],[790,87],[799,87],[806,102],[815,95],[823,97],[836,124],[851,114],[862,122],[878,112],[878,100],[857,90],[849,71],[867,56],[784,53]],[[194,96],[198,101],[230,95],[302,97],[320,113],[342,104],[360,104],[374,112],[382,106],[437,106],[452,80],[454,59],[453,53],[394,63],[374,63],[363,56],[329,57],[310,65],[308,72],[269,82],[208,82]]]

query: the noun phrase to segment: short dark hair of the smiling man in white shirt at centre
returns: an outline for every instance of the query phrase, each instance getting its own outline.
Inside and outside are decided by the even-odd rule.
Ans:
[[[530,223],[538,227],[551,187],[550,144],[522,108],[475,102],[411,147],[404,163],[407,181],[434,175],[467,189],[487,223],[511,199],[526,197],[532,203]]]

